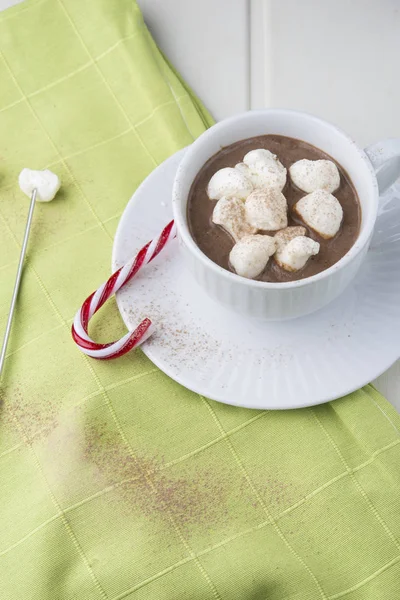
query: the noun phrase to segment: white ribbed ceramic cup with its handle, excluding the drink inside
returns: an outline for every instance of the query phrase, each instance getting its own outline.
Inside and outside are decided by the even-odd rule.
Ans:
[[[239,277],[203,254],[188,228],[188,194],[204,163],[224,146],[265,134],[304,140],[332,156],[349,174],[361,203],[361,228],[352,248],[329,269],[299,281],[269,283]],[[339,296],[360,268],[378,215],[379,194],[400,175],[399,157],[399,139],[362,150],[334,125],[301,112],[250,111],[221,121],[189,147],[175,177],[173,211],[185,262],[210,296],[241,314],[282,320],[314,312]]]

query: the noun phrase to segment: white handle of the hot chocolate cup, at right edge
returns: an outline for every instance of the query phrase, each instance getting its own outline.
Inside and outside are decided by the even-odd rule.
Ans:
[[[375,169],[379,194],[400,177],[400,138],[388,138],[365,148],[365,153]]]

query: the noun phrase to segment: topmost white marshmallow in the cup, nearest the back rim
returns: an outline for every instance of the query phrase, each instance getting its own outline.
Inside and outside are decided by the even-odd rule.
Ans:
[[[276,154],[264,148],[248,152],[235,168],[247,175],[256,189],[275,187],[282,190],[286,183],[285,167]]]

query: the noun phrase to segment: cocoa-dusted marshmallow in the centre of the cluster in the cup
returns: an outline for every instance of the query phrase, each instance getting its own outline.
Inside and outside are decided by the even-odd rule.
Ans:
[[[287,227],[286,198],[277,188],[255,190],[245,202],[246,219],[253,227],[277,231]]]

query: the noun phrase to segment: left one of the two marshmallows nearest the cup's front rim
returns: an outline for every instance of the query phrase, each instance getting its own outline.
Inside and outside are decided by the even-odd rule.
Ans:
[[[236,273],[254,279],[263,272],[276,249],[269,235],[246,235],[232,248],[229,260]]]

